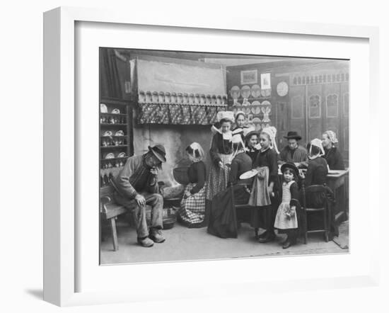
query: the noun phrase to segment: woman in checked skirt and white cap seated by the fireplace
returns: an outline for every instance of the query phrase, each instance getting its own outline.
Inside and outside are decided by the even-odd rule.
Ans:
[[[178,210],[178,220],[187,227],[204,226],[205,215],[205,164],[202,146],[193,142],[185,149],[192,164],[187,170],[187,184]]]

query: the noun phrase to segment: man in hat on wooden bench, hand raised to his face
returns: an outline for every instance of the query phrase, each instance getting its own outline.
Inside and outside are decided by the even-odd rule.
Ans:
[[[166,151],[161,144],[149,147],[143,155],[129,157],[120,173],[111,180],[115,201],[132,209],[137,227],[138,244],[153,246],[165,241],[162,237],[163,198],[158,193],[158,169],[166,162]],[[146,222],[146,205],[151,205],[150,232]]]

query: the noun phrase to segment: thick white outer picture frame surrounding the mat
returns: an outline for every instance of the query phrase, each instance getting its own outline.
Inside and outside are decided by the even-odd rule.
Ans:
[[[326,278],[310,277],[308,273],[301,275],[300,279],[288,278],[267,280],[266,284],[259,283],[259,277],[253,275],[250,280],[236,278],[236,280],[219,280],[216,285],[207,282],[199,288],[196,282],[193,286],[185,285],[182,288],[180,278],[173,278],[171,283],[164,286],[164,292],[158,293],[149,290],[146,295],[144,291],[129,286],[118,290],[104,290],[102,286],[97,291],[81,291],[77,285],[77,278],[85,268],[76,266],[81,255],[78,238],[80,231],[79,214],[77,210],[79,205],[79,186],[81,181],[76,175],[80,170],[78,159],[79,155],[79,137],[77,135],[78,127],[81,123],[79,119],[79,108],[76,106],[77,95],[75,93],[75,26],[76,23],[114,23],[116,25],[154,25],[164,28],[198,28],[199,30],[220,30],[221,33],[229,30],[240,30],[241,32],[262,32],[269,34],[281,33],[284,36],[309,35],[315,36],[334,36],[335,38],[364,38],[368,40],[368,72],[369,92],[368,107],[371,111],[378,110],[378,28],[367,26],[350,25],[331,25],[320,23],[299,23],[279,21],[265,21],[255,19],[253,21],[236,18],[234,23],[226,18],[206,19],[195,16],[185,16],[185,20],[180,16],[156,17],[149,16],[147,12],[137,12],[136,16],[129,16],[127,12],[120,10],[110,11],[107,9],[91,8],[71,8],[62,7],[47,11],[44,15],[44,300],[60,306],[71,305],[91,305],[100,303],[147,301],[150,297],[153,300],[179,299],[183,297],[219,296],[219,295],[237,295],[237,294],[255,294],[262,292],[283,292],[290,290],[312,290],[333,288],[350,288],[359,286],[378,285],[379,267],[378,267],[378,224],[370,232],[371,246],[366,250],[366,258],[363,260],[364,266],[360,266],[358,271],[347,273],[347,275],[328,274]],[[81,38],[82,39],[82,38]],[[96,65],[97,66],[97,65]],[[353,83],[353,81],[352,81]],[[352,95],[352,93],[350,93]],[[76,100],[75,100],[76,99]],[[96,106],[97,108],[97,106]],[[356,117],[356,113],[354,113]],[[353,118],[354,118],[353,116]],[[352,125],[354,125],[352,123]],[[353,126],[352,126],[353,127]],[[358,127],[356,127],[358,128]],[[352,139],[353,137],[351,137]],[[353,145],[351,144],[351,147]],[[355,146],[354,146],[355,147]],[[367,149],[372,155],[378,153],[379,135],[372,138]],[[367,147],[367,148],[368,148]],[[352,150],[352,149],[351,149]],[[352,152],[352,151],[351,151]],[[354,157],[355,154],[352,154]],[[368,186],[373,186],[378,181],[378,173],[369,171],[373,168],[373,157],[366,164],[366,177]],[[353,186],[356,188],[356,186]],[[373,193],[373,188],[368,188],[367,193]],[[356,194],[358,190],[356,189]],[[366,220],[373,220],[373,216],[378,216],[379,205],[377,197],[366,197],[368,210],[364,210]],[[366,207],[365,207],[366,209]],[[96,208],[97,210],[97,208]],[[357,216],[358,212],[355,213]],[[361,239],[361,236],[354,232],[355,241]],[[357,249],[355,249],[357,251]],[[97,253],[97,251],[96,251]],[[313,256],[301,256],[298,262],[308,262]],[[323,257],[325,260],[335,262],[334,256]],[[352,258],[354,256],[350,256]],[[355,260],[358,261],[361,256],[356,254]],[[319,261],[321,257],[314,257]],[[294,258],[274,258],[272,263],[279,264],[288,259],[294,262]],[[354,258],[352,258],[354,260]],[[355,261],[354,260],[354,261]],[[261,262],[267,263],[268,260]],[[253,268],[255,260],[243,259],[224,260],[224,261],[204,261],[197,262],[196,268],[200,271],[208,271],[207,268],[215,268],[216,262],[223,262],[223,266],[234,268],[239,264],[245,271],[246,266]],[[190,262],[187,262],[190,263]],[[192,264],[191,264],[192,265]],[[221,263],[216,263],[220,267]],[[95,266],[95,264],[93,264]],[[173,268],[185,268],[188,264],[182,263],[163,263],[149,266],[151,272],[160,273],[163,278],[164,271],[171,271]],[[101,271],[115,271],[118,266],[105,266]],[[121,270],[127,271],[125,266],[119,266]],[[134,270],[133,270],[134,271]],[[308,270],[307,270],[308,271]],[[135,271],[134,271],[135,272]],[[134,277],[136,273],[134,273]],[[123,274],[124,275],[124,274]],[[127,275],[127,274],[126,274]],[[213,273],[218,278],[219,273]],[[134,278],[137,281],[137,278]],[[239,288],[236,288],[239,284]],[[218,286],[217,288],[215,286]],[[174,292],[173,292],[174,291]]]

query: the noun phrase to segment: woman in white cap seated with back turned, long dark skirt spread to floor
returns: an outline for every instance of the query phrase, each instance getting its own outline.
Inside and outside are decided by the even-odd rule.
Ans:
[[[247,185],[250,180],[242,181],[240,175],[252,169],[252,161],[247,154],[241,136],[234,135],[233,139],[233,158],[231,170],[229,173],[228,184],[233,186],[233,195],[235,204],[248,202],[250,193]],[[231,189],[218,193],[211,203],[211,212],[209,216],[208,232],[221,238],[236,238],[237,234],[236,212],[233,210]]]

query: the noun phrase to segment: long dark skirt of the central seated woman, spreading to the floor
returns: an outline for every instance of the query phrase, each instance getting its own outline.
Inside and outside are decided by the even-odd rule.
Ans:
[[[248,203],[250,193],[244,186],[233,186],[233,194],[236,204]],[[211,202],[209,212],[208,232],[221,238],[237,238],[238,226],[236,212],[233,210],[231,188],[218,193]]]

